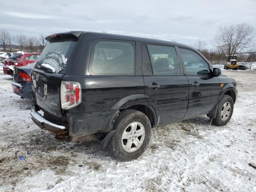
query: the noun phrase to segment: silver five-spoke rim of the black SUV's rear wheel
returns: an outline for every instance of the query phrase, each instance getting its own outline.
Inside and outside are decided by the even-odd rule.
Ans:
[[[145,128],[140,122],[132,122],[122,134],[122,147],[126,152],[138,150],[145,138]]]

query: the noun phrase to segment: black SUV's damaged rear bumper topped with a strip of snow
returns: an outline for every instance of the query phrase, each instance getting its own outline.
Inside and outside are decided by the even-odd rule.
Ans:
[[[36,110],[33,108],[30,112],[31,118],[33,122],[40,128],[49,131],[50,133],[56,135],[56,136],[68,136],[68,129],[65,126],[54,124],[48,120],[46,120],[44,117],[41,116]]]

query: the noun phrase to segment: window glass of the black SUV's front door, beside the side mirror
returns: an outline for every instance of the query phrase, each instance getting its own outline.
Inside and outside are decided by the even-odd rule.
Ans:
[[[209,66],[196,52],[179,48],[188,75],[208,75]]]

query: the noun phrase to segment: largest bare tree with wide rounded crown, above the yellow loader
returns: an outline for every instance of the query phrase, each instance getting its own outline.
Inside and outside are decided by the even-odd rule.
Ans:
[[[214,44],[226,56],[236,55],[247,48],[253,38],[254,27],[250,24],[220,26],[214,36]]]

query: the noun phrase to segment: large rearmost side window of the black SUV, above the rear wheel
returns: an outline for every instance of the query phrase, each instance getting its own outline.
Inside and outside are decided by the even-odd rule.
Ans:
[[[92,75],[135,74],[135,42],[99,41],[93,48],[89,72]]]

